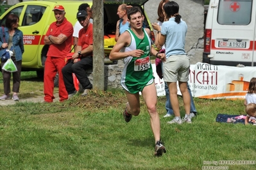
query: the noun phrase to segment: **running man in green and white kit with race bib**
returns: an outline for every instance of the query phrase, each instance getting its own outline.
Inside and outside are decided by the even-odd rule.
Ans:
[[[130,29],[119,36],[117,43],[110,52],[110,60],[124,59],[124,70],[121,86],[125,89],[128,103],[123,112],[124,120],[129,122],[132,116],[140,113],[139,91],[147,105],[151,130],[155,137],[155,156],[166,153],[160,141],[160,119],[157,112],[157,90],[155,88],[150,54],[165,61],[166,55],[160,54],[151,47],[150,30],[142,27],[144,16],[139,7],[128,10]],[[121,51],[120,51],[121,50]]]

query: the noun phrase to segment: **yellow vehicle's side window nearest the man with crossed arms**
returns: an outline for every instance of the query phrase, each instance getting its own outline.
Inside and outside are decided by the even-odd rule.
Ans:
[[[36,24],[42,18],[45,10],[45,6],[28,5],[24,14],[22,26],[31,26],[33,24]]]

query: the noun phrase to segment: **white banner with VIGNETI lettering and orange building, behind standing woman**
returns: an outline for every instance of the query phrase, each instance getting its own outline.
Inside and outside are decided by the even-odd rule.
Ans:
[[[163,79],[159,79],[152,65],[155,76],[157,95],[164,96]],[[198,98],[244,98],[250,79],[256,77],[253,66],[221,66],[196,63],[190,66],[189,86],[193,97]],[[158,93],[159,92],[159,93]],[[180,94],[179,94],[180,95]]]

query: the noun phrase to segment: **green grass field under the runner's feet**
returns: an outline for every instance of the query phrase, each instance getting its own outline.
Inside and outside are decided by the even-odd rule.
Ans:
[[[243,100],[194,98],[198,116],[192,124],[169,125],[170,118],[162,118],[166,99],[159,97],[167,153],[156,158],[143,100],[141,114],[126,123],[123,90],[92,91],[89,96],[62,103],[0,106],[0,169],[202,169],[213,166],[212,161],[256,160],[256,127],[215,121],[218,113],[244,114]],[[255,165],[218,166],[255,169]]]

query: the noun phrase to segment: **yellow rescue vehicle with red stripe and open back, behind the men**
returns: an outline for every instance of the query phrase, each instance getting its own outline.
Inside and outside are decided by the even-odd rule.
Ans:
[[[127,0],[126,4],[132,6],[141,6],[148,0]],[[24,54],[22,55],[22,70],[36,70],[38,76],[44,73],[44,62],[49,48],[44,45],[44,36],[46,35],[49,25],[54,22],[53,8],[56,4],[61,4],[65,8],[65,17],[73,25],[76,22],[76,13],[78,6],[81,3],[88,3],[92,6],[92,1],[26,1],[17,3],[10,7],[0,17],[1,26],[4,25],[6,17],[10,13],[15,13],[19,16],[19,29],[23,32]],[[108,58],[112,47],[115,45],[114,35],[115,26],[119,17],[117,8],[122,2],[108,1],[104,2],[104,33],[105,33],[105,58]],[[144,13],[145,18],[147,18]],[[147,27],[151,27],[149,20],[144,20]],[[153,31],[152,31],[153,33]],[[152,34],[152,38],[154,38]]]

